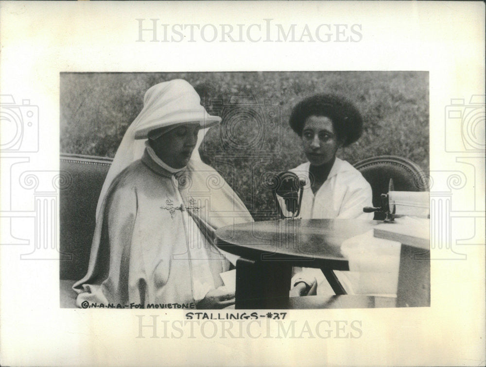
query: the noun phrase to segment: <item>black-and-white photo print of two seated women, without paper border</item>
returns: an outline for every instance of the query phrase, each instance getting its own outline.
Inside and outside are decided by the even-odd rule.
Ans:
[[[61,307],[429,306],[428,81],[61,74]]]

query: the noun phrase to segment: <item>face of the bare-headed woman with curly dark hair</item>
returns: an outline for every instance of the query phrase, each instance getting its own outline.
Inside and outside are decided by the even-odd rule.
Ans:
[[[302,130],[302,146],[307,159],[313,166],[330,162],[342,145],[334,132],[329,117],[307,117]]]

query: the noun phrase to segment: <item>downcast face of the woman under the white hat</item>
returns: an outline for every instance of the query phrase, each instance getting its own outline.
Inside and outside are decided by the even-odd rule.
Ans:
[[[185,167],[196,146],[199,128],[198,123],[177,126],[157,139],[151,140],[150,146],[167,165],[173,168]]]

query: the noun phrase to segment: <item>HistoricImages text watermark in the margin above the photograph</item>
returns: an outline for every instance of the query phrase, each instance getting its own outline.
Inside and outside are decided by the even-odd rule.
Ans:
[[[135,42],[360,42],[361,24],[280,24],[272,18],[251,24],[167,24],[137,18]]]

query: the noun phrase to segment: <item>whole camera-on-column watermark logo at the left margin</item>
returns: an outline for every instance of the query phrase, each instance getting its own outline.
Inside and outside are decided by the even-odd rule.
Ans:
[[[59,189],[71,184],[69,172],[29,165],[39,152],[39,106],[29,99],[16,103],[14,96],[1,95],[0,116],[1,245],[25,246],[22,260],[69,259],[60,253],[57,235]]]

